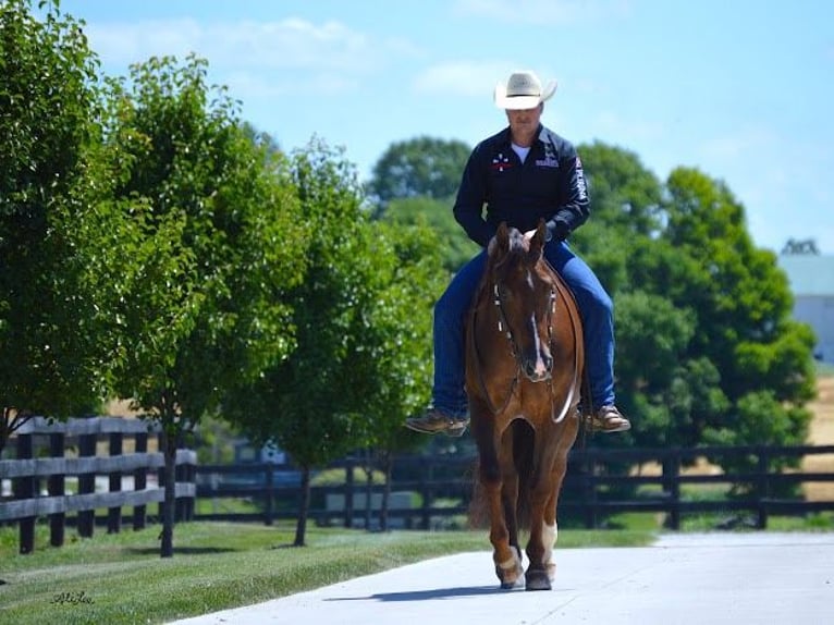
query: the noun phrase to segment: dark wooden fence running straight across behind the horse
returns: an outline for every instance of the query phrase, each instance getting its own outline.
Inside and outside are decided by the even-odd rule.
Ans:
[[[830,469],[811,473],[771,468],[774,461],[801,461],[812,456],[831,456]],[[744,459],[752,468],[732,473],[716,469],[709,475],[685,470],[699,459],[709,461],[713,466]],[[383,485],[369,487],[354,479],[356,469],[363,466],[360,459],[348,458],[331,466],[343,467],[346,480],[341,486],[312,488],[310,518],[321,525],[336,523],[352,527],[367,523],[371,513],[376,516],[378,511],[370,507],[378,506]],[[390,519],[398,519],[395,523],[404,527],[430,529],[469,514],[476,480],[475,458],[402,456],[394,466],[391,490],[410,494],[412,505],[402,505],[404,498],[400,498],[398,504],[388,510]],[[652,469],[640,473],[635,467]],[[274,519],[296,518],[301,495],[297,485],[289,479],[294,470],[291,465],[275,464],[198,466],[198,499],[248,499],[259,504],[260,512],[197,513],[195,518],[260,520],[268,525]],[[801,489],[817,482],[834,482],[834,445],[575,450],[571,452],[560,514],[578,519],[587,528],[600,527],[610,515],[622,512],[662,513],[671,529],[680,528],[682,515],[697,513],[725,514],[731,519],[747,515],[746,519],[755,527],[765,528],[770,515],[834,511],[834,498],[809,501],[801,494],[784,494],[789,490],[786,487]],[[726,497],[734,485],[745,486],[743,494]],[[718,488],[691,498],[686,488],[682,492],[682,487],[687,486]],[[338,501],[336,505],[329,504],[333,500]],[[371,502],[371,506],[365,502]]]

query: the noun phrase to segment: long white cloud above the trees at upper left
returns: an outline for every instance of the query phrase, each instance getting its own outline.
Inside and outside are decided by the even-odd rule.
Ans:
[[[372,41],[340,22],[314,24],[294,17],[210,24],[192,19],[91,23],[87,35],[108,73],[126,74],[131,63],[154,56],[184,59],[194,52],[208,60],[213,82],[244,100],[356,91],[382,65],[422,54],[403,38]]]

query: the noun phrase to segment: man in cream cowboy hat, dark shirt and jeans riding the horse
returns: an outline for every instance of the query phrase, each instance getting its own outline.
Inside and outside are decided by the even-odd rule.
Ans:
[[[454,206],[457,222],[485,249],[455,274],[434,306],[432,406],[406,420],[413,430],[453,437],[466,430],[464,330],[486,267],[487,246],[502,221],[529,238],[541,218],[548,226],[544,256],[571,286],[582,317],[593,428],[621,432],[631,427],[614,405],[611,297],[566,243],[588,219],[589,198],[576,149],[540,121],[544,101],[555,90],[555,82],[542,89],[528,71],[515,72],[495,87],[495,105],[506,111],[510,125],[475,147]]]

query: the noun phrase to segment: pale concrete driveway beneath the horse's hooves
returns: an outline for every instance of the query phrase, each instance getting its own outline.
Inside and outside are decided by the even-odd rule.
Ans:
[[[500,590],[488,551],[429,560],[176,625],[834,623],[834,534],[664,535],[556,549],[551,591]]]

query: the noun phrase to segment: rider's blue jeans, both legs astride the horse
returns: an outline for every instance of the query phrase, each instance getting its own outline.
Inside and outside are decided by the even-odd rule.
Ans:
[[[551,241],[544,257],[564,278],[576,297],[585,333],[585,364],[596,410],[614,403],[614,306],[597,275],[564,242]],[[436,408],[453,416],[467,412],[464,329],[483,275],[487,250],[464,265],[434,305]]]

